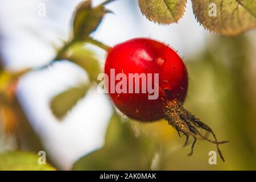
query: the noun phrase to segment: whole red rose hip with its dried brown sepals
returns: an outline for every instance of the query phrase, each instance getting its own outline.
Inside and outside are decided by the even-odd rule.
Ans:
[[[191,153],[197,138],[217,145],[212,129],[185,110],[188,73],[183,60],[168,45],[156,40],[137,38],[118,44],[108,51],[105,63],[106,90],[123,114],[139,121],[166,119],[178,134],[193,137]],[[213,140],[199,130],[212,134]]]

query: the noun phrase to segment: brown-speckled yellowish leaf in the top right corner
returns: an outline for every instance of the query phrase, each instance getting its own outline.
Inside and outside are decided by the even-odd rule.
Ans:
[[[211,32],[235,36],[256,27],[255,0],[193,0],[192,5],[197,20]],[[216,16],[210,13],[214,9]]]

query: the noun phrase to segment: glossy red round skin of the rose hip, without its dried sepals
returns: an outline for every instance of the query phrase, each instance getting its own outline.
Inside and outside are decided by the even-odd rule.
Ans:
[[[105,63],[109,79],[110,69],[115,69],[115,75],[125,73],[127,78],[129,73],[159,73],[159,97],[156,100],[148,100],[148,92],[109,93],[114,105],[130,118],[139,121],[161,119],[167,101],[183,103],[187,95],[188,73],[182,59],[168,45],[156,40],[137,38],[114,46]]]

